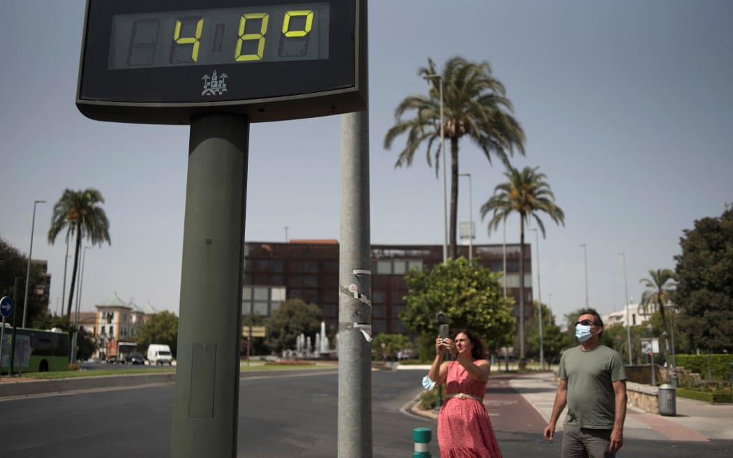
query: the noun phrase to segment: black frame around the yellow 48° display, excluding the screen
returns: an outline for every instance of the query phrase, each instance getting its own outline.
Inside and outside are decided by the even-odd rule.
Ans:
[[[202,7],[205,4],[205,7]],[[328,4],[328,58],[110,68],[116,15]],[[366,4],[361,0],[87,0],[76,106],[100,121],[190,124],[200,114],[246,114],[251,122],[361,111],[367,100]],[[273,26],[277,33],[277,26]],[[224,94],[202,77],[226,73]]]

